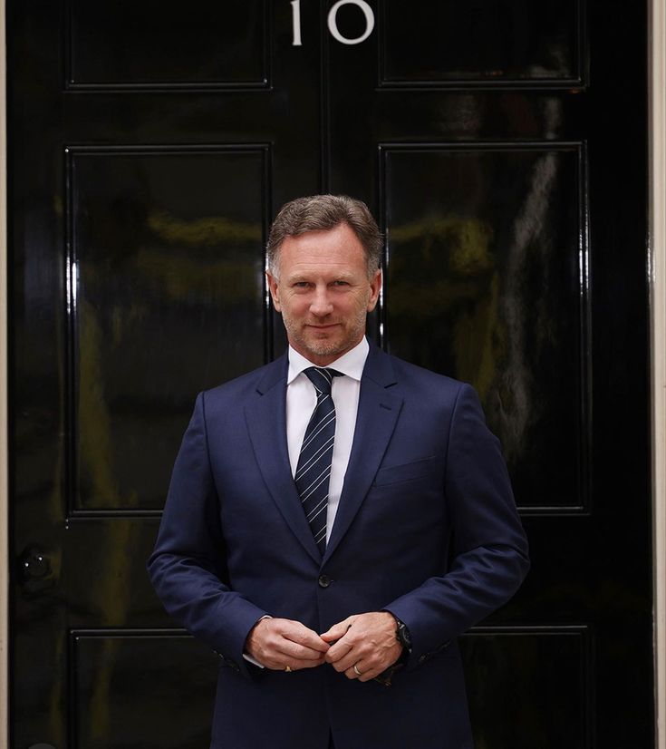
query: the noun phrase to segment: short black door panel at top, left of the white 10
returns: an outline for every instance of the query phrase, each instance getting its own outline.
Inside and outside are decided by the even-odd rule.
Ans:
[[[270,85],[266,0],[70,0],[67,88],[160,89]]]

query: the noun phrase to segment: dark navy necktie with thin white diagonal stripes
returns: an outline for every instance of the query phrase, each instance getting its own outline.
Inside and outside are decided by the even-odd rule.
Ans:
[[[303,445],[294,475],[305,517],[313,531],[314,541],[322,552],[326,548],[326,511],[328,482],[333,462],[335,439],[335,404],[331,397],[333,377],[342,375],[334,369],[311,366],[305,375],[317,392],[317,404],[305,429]]]

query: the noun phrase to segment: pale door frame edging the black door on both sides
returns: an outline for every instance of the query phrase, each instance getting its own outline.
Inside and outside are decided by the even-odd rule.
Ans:
[[[666,8],[649,2],[649,274],[655,747],[666,749]],[[9,745],[9,500],[5,0],[0,0],[0,745]]]

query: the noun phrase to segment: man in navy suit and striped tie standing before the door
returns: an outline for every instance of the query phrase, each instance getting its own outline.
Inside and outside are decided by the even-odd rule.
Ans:
[[[221,657],[212,747],[470,749],[456,637],[528,566],[469,385],[369,345],[381,238],[287,203],[268,286],[289,351],[198,396],[150,558]]]

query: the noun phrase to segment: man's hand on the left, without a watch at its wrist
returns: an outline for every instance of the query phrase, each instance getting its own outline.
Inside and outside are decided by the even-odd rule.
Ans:
[[[246,639],[246,653],[278,671],[321,666],[328,648],[316,632],[292,619],[259,619]]]

